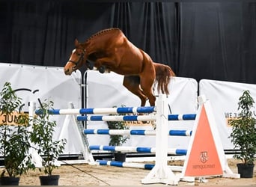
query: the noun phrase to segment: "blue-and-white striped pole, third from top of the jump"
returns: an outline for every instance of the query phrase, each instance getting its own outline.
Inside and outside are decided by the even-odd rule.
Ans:
[[[84,129],[85,135],[156,135],[154,130],[144,129]],[[170,130],[168,135],[191,136],[190,130]]]

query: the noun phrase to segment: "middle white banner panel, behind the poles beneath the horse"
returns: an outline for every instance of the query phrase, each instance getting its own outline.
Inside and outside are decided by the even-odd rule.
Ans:
[[[140,106],[138,96],[130,93],[123,86],[124,76],[116,73],[99,73],[88,71],[86,76],[87,103],[86,108],[112,108],[113,106]],[[187,114],[197,111],[198,83],[195,79],[174,77],[168,86],[170,95],[168,103],[170,114]],[[156,93],[157,95],[157,93]],[[156,98],[157,99],[157,98]],[[146,105],[149,105],[147,102]],[[89,121],[87,129],[108,129],[106,122]],[[193,121],[170,122],[169,129],[192,129]],[[130,129],[153,129],[150,124],[129,123]],[[91,145],[108,145],[109,135],[88,135]],[[168,147],[186,148],[189,138],[171,137]],[[131,136],[125,146],[155,147],[154,136]]]

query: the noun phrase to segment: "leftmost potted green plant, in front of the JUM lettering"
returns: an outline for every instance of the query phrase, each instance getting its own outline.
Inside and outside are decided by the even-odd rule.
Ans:
[[[4,156],[1,185],[19,185],[18,176],[34,168],[29,154],[28,115],[19,114],[21,104],[22,99],[6,82],[0,93],[0,154]]]

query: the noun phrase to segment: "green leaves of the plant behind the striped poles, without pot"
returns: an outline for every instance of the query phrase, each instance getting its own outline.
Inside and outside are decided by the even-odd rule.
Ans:
[[[114,106],[114,108],[115,107],[116,106]],[[124,107],[124,105],[122,105],[122,107]],[[107,121],[107,123],[108,123],[109,129],[129,129],[125,121]],[[109,145],[120,146],[124,144],[128,139],[129,139],[129,136],[127,135],[110,135]]]

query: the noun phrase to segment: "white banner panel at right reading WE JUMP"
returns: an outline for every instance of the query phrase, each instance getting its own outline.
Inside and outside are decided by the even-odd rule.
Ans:
[[[225,150],[234,149],[231,139],[228,138],[232,130],[231,126],[228,126],[228,119],[237,117],[237,103],[245,90],[249,90],[256,101],[256,85],[206,79],[199,82],[199,93],[210,99]]]

